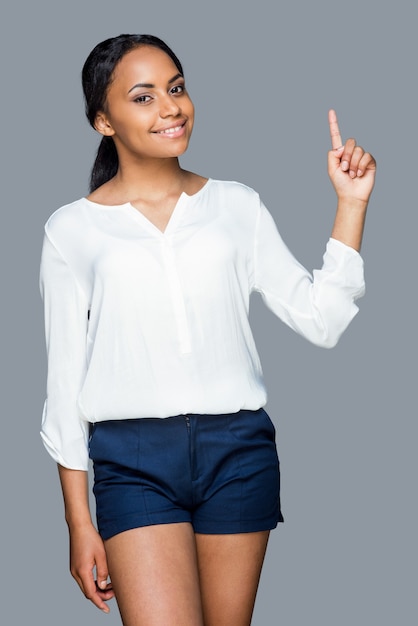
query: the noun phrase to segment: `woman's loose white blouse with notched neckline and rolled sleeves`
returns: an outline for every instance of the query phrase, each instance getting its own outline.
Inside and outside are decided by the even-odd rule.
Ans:
[[[310,341],[332,347],[364,293],[360,255],[330,239],[313,277],[252,189],[209,179],[162,233],[131,204],[82,198],[45,226],[48,352],[41,436],[88,469],[88,423],[258,409],[266,390],[252,291]]]

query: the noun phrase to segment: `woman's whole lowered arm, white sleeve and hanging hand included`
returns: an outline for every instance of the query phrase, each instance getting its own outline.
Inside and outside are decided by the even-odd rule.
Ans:
[[[57,214],[59,218],[62,213]],[[64,214],[65,217],[65,214]],[[55,222],[55,226],[56,226]],[[67,224],[60,224],[58,240]],[[67,246],[68,247],[68,246]],[[42,249],[40,287],[45,310],[48,353],[47,399],[41,435],[58,464],[65,518],[70,533],[71,573],[99,609],[113,597],[103,541],[94,527],[88,497],[88,423],[81,419],[77,398],[86,371],[88,300],[70,263],[49,235]],[[95,581],[97,579],[97,585]]]

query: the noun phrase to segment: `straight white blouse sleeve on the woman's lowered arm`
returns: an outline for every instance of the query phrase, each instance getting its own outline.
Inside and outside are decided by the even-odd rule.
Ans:
[[[41,437],[57,463],[87,470],[88,424],[77,399],[86,371],[88,303],[70,267],[45,234],[40,272],[48,355]]]

